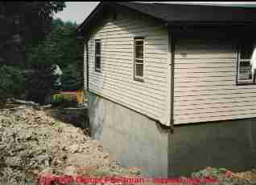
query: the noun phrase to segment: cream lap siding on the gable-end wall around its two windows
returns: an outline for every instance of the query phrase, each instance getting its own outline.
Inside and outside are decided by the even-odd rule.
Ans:
[[[134,37],[145,38],[144,82],[134,81]],[[101,39],[101,73],[94,39]],[[89,90],[167,124],[167,48],[167,30],[151,20],[106,19],[89,39]]]

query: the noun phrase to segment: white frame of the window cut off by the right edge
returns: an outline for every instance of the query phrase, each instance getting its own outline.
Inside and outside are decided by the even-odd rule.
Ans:
[[[239,79],[240,63],[241,62],[250,62],[250,60],[251,60],[251,59],[241,58],[241,50],[242,50],[243,45],[245,45],[245,44],[241,43],[237,46],[238,52],[237,52],[237,80],[236,80],[237,82],[236,82],[236,85],[237,86],[256,85],[255,74],[252,74],[252,79],[250,79],[250,80],[241,80],[241,79]]]

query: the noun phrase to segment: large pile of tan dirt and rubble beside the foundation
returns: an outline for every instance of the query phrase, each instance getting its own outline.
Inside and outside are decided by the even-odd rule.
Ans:
[[[140,174],[110,159],[81,128],[27,106],[0,111],[0,158],[0,184],[46,184],[42,178],[51,175]]]

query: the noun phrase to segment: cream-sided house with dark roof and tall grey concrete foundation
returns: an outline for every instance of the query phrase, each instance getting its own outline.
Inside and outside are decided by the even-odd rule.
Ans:
[[[101,2],[79,26],[93,138],[145,175],[255,167],[256,9]]]

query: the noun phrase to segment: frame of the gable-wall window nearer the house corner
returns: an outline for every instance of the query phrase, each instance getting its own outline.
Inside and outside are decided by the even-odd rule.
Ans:
[[[142,58],[136,58],[136,47],[135,43],[136,41],[142,41],[143,42],[143,57]],[[141,63],[136,62],[136,60],[142,61]],[[136,64],[137,65],[142,65],[143,70],[142,70],[142,76],[136,75]],[[135,37],[134,38],[134,80],[139,81],[139,82],[144,82],[145,78],[145,38],[144,37]]]

